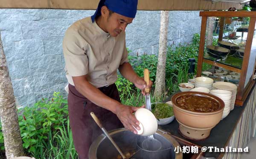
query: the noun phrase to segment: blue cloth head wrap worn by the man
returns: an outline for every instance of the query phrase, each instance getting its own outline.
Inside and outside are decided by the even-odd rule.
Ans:
[[[101,15],[102,6],[107,6],[109,10],[121,14],[125,17],[134,18],[137,12],[138,0],[100,0],[96,12],[91,16],[94,22],[97,16]]]

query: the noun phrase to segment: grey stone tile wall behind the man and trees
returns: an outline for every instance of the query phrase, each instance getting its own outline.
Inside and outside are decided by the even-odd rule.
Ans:
[[[0,32],[17,105],[29,106],[50,98],[54,91],[67,94],[62,39],[76,20],[93,10],[0,9]],[[197,11],[169,13],[168,45],[189,43],[200,32]],[[126,29],[132,55],[157,54],[160,11],[138,11]]]

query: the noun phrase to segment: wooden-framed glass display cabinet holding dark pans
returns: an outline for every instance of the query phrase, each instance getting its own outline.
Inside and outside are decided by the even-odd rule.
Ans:
[[[238,86],[236,105],[242,106],[255,83],[256,11],[207,11],[200,16],[197,77],[207,71],[206,65],[211,67],[212,75]]]

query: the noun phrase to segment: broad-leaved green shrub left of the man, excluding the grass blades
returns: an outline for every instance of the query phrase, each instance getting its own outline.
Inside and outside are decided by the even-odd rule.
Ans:
[[[55,92],[51,100],[43,98],[33,107],[25,107],[18,111],[20,112],[23,114],[19,116],[23,147],[28,149],[29,153],[34,153],[34,145],[47,139],[46,135],[51,130],[55,130],[67,120],[67,100]]]

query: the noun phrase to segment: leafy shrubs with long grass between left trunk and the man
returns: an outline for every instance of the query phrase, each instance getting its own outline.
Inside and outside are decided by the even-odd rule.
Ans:
[[[37,159],[76,158],[67,120],[67,99],[60,93],[55,92],[49,100],[42,98],[32,107],[21,108],[18,114],[23,148],[28,156]],[[4,150],[2,131],[0,144]]]

